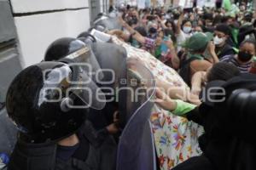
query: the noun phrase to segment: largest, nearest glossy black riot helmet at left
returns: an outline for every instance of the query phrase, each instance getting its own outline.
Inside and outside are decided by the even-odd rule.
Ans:
[[[61,62],[32,65],[15,77],[7,93],[6,109],[20,139],[34,144],[56,142],[81,127],[90,108],[83,98],[95,98],[97,86],[88,82],[86,75],[79,77],[87,84],[73,84],[74,77],[77,75],[69,65]],[[85,87],[94,91],[89,94]]]

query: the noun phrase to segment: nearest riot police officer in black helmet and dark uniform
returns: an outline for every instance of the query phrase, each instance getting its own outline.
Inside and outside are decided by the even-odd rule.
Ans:
[[[73,84],[73,82],[87,82]],[[89,91],[93,95],[88,95]],[[9,169],[98,169],[93,148],[83,138],[97,86],[83,71],[60,62],[43,62],[21,71],[11,83],[6,108],[19,130]],[[96,102],[96,99],[92,99]],[[83,140],[81,140],[83,138]],[[78,159],[83,150],[84,160]]]

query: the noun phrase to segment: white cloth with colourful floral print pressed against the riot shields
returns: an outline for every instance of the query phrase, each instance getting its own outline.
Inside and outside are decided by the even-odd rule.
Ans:
[[[143,65],[154,77],[168,82],[173,87],[188,88],[176,71],[145,50],[133,48],[117,37],[112,37],[112,41],[126,49],[128,58],[143,61]],[[150,121],[161,170],[170,170],[192,156],[201,155],[197,139],[203,133],[203,127],[181,116],[175,116],[170,111],[162,110],[157,105],[154,105]]]

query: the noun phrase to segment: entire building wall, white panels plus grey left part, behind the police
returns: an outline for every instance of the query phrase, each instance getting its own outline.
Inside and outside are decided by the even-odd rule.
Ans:
[[[0,110],[9,83],[42,61],[51,42],[88,30],[90,1],[0,0]]]

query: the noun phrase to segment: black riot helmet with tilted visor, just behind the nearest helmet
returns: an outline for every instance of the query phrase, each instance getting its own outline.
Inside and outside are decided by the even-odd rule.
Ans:
[[[94,82],[102,80],[102,71],[90,46],[79,39],[63,37],[49,45],[44,61],[60,61],[73,65],[73,71],[84,70]]]

